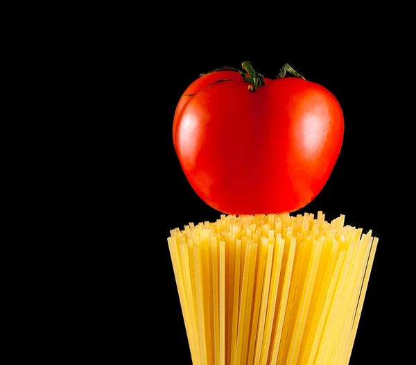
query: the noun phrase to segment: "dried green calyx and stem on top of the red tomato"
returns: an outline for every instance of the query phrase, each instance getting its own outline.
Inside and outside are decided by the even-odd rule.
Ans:
[[[248,83],[248,90],[250,92],[255,92],[257,88],[264,85],[264,76],[262,74],[259,74],[259,72],[254,71],[252,64],[249,61],[244,61],[241,64],[241,69],[236,69],[234,67],[220,67],[219,69],[214,69],[213,71],[207,72],[205,74],[200,74],[200,76],[204,76],[207,74],[211,74],[213,72],[217,71],[236,71],[241,74],[241,77],[243,77],[243,80]],[[292,74],[293,76],[296,76],[298,78],[302,78],[302,80],[305,80],[304,76],[299,74],[299,72],[295,71],[288,63],[286,63],[283,67],[281,67],[279,74],[275,78],[284,78],[286,76],[286,73]]]

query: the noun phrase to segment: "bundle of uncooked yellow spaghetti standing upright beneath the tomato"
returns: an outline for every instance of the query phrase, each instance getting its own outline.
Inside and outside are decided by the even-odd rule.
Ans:
[[[193,365],[348,364],[378,239],[344,220],[223,214],[171,230]]]

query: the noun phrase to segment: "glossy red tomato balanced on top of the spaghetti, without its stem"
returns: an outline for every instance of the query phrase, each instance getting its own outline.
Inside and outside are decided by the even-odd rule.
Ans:
[[[265,78],[250,92],[236,71],[198,78],[173,122],[191,187],[226,214],[278,214],[310,203],[336,164],[343,135],[343,111],[325,87]]]

